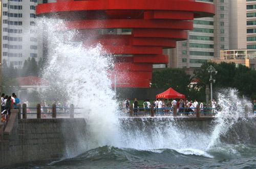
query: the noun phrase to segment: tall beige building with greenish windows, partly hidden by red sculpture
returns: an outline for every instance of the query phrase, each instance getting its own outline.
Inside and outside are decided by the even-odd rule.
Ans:
[[[168,67],[186,68],[190,74],[203,62],[218,58],[220,50],[229,49],[230,1],[201,1],[214,4],[216,15],[195,19],[194,29],[188,32],[188,40],[179,41],[175,49],[164,51],[170,56]]]

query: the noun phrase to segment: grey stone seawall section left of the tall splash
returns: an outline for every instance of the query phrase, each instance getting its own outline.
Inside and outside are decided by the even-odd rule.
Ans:
[[[82,118],[19,119],[0,141],[0,167],[72,157],[70,150],[79,152],[85,132]]]

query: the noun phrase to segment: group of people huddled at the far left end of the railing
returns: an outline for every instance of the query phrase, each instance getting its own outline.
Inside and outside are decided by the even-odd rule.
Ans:
[[[1,121],[5,122],[10,114],[11,109],[16,109],[17,104],[19,104],[19,98],[17,98],[15,93],[12,93],[12,95],[6,95],[5,93],[2,93],[1,95]]]

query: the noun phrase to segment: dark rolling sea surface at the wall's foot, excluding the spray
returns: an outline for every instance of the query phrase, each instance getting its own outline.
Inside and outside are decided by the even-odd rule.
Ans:
[[[70,159],[20,164],[13,168],[256,168],[256,145],[223,143],[206,152],[104,146]]]

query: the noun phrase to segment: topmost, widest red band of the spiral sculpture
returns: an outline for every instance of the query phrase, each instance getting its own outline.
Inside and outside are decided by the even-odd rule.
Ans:
[[[156,5],[157,4],[157,5]],[[170,0],[98,0],[98,1],[71,1],[40,4],[36,7],[36,14],[55,13],[65,11],[84,10],[167,10],[208,13],[215,12],[214,6],[208,3]]]

